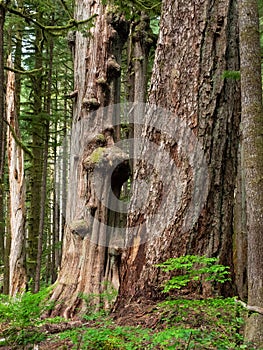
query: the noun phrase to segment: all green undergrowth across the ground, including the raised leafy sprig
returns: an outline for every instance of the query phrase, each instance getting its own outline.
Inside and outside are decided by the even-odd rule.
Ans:
[[[12,299],[1,295],[0,349],[256,349],[244,343],[247,310],[236,298],[171,295],[189,283],[197,291],[205,281],[225,283],[227,267],[196,256],[169,259],[159,267],[178,270],[163,286],[170,293],[164,301],[129,303],[110,312],[95,311],[90,306],[94,296],[80,296],[87,311],[78,320],[42,317],[55,306],[48,301],[51,287]],[[104,293],[102,303],[114,296]]]

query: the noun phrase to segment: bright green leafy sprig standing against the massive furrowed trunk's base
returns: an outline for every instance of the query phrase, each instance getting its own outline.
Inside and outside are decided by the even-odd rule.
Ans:
[[[189,282],[213,281],[224,283],[230,278],[229,267],[217,263],[216,258],[207,258],[206,256],[186,255],[179,258],[171,258],[158,267],[165,272],[178,270],[179,275],[171,277],[165,284],[163,292],[169,292],[171,289],[180,289],[188,285]]]

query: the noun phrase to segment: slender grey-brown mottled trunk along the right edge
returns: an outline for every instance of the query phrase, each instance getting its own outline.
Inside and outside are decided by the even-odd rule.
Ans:
[[[263,308],[263,106],[256,0],[239,1],[242,147],[248,227],[248,304]],[[249,315],[246,339],[263,346],[263,315]]]

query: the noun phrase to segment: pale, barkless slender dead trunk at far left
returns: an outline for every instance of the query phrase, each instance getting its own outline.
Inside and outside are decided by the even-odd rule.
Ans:
[[[11,67],[11,58],[8,65]],[[10,229],[11,248],[9,257],[9,294],[14,296],[25,290],[25,179],[24,154],[17,145],[20,137],[15,101],[15,74],[8,72],[7,78],[7,122],[8,128],[8,169],[10,186]],[[12,130],[11,130],[12,128]]]

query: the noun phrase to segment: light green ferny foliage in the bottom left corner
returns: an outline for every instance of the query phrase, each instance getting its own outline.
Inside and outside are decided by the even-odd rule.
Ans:
[[[49,294],[50,288],[13,298],[0,295],[0,323],[7,325],[2,332],[7,344],[26,345],[45,338],[38,327],[43,323],[41,315],[54,306],[47,301]]]

